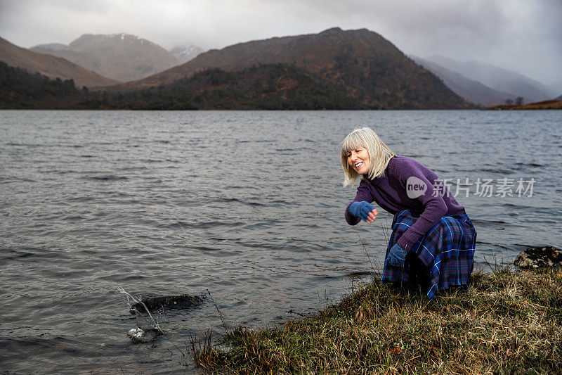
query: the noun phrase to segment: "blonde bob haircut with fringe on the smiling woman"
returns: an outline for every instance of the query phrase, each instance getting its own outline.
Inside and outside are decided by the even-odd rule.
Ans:
[[[396,153],[384,144],[377,133],[370,127],[362,127],[349,133],[341,143],[341,166],[344,167],[344,186],[351,185],[359,177],[353,167],[347,163],[347,154],[357,148],[365,148],[369,154],[369,179],[384,176],[384,170],[388,162],[396,156]]]

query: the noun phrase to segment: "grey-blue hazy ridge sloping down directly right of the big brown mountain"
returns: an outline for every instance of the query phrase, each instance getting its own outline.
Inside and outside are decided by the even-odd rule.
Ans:
[[[443,80],[443,83],[455,92],[455,94],[462,96],[472,103],[478,103],[481,106],[490,107],[504,104],[506,99],[511,99],[512,101],[516,100],[516,96],[514,94],[491,89],[481,82],[470,80],[460,73],[443,68],[441,65],[432,63],[424,58],[417,56],[410,56],[410,58],[427,70],[433,72],[433,74]]]

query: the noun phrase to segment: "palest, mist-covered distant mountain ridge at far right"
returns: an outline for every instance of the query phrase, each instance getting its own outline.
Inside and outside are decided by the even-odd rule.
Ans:
[[[426,60],[453,72],[458,72],[471,80],[481,82],[497,91],[510,93],[513,96],[523,96],[525,102],[541,101],[554,96],[554,93],[544,84],[518,72],[499,68],[495,65],[478,61],[460,63],[443,56],[430,56]]]

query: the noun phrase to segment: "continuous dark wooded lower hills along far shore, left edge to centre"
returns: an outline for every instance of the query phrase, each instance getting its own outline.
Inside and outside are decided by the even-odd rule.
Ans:
[[[0,108],[45,109],[362,109],[344,87],[287,64],[238,72],[204,70],[174,84],[126,93],[81,91],[0,62]]]

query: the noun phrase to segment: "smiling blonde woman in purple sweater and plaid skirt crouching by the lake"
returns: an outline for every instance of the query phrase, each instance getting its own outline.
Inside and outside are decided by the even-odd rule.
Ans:
[[[369,127],[346,136],[341,165],[344,186],[362,177],[346,208],[348,224],[374,222],[372,201],[394,215],[382,281],[419,285],[429,298],[451,286],[466,286],[476,230],[432,170],[393,153]]]

